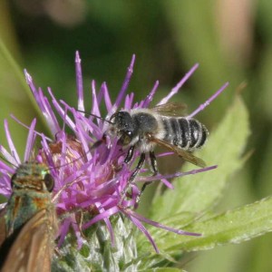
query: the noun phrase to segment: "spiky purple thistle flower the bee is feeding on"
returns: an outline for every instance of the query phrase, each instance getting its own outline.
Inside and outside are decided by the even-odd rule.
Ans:
[[[137,214],[133,210],[137,208],[137,198],[140,193],[136,183],[161,180],[166,186],[172,189],[172,185],[168,179],[195,174],[205,170],[212,170],[216,168],[216,166],[191,170],[189,172],[178,172],[167,176],[160,174],[155,177],[139,175],[131,185],[130,199],[123,199],[121,202],[121,193],[123,189],[126,188],[127,182],[131,177],[132,164],[134,160],[137,160],[137,155],[139,155],[139,153],[136,152],[136,156],[134,156],[129,164],[124,164],[123,161],[126,152],[121,150],[117,139],[110,140],[106,138],[103,140],[103,144],[96,146],[98,141],[102,141],[104,132],[107,131],[109,125],[106,121],[99,119],[99,117],[101,117],[100,108],[102,103],[104,103],[108,112],[105,120],[109,120],[112,113],[116,112],[116,110],[121,107],[121,102],[124,102],[122,108],[125,110],[147,108],[157,91],[159,82],[156,82],[151,93],[138,103],[133,103],[133,93],[126,94],[131,80],[134,61],[135,56],[133,55],[124,83],[121,86],[121,91],[115,102],[112,102],[106,83],[102,83],[100,91],[97,92],[95,82],[92,81],[91,113],[98,118],[93,116],[88,117],[88,114],[85,116],[83,113],[85,110],[83,77],[81,59],[78,52],[76,52],[75,56],[78,95],[77,109],[70,107],[63,101],[58,102],[53,96],[53,92],[50,88],[47,89],[47,92],[51,97],[51,102],[49,102],[44,95],[43,90],[41,88],[36,89],[32,77],[29,73],[24,71],[26,82],[30,86],[34,98],[43,112],[44,118],[47,121],[52,134],[55,135],[55,139],[51,140],[43,133],[34,131],[35,121],[33,121],[29,127],[24,161],[30,160],[30,155],[34,151],[35,137],[39,135],[42,149],[38,152],[36,160],[46,163],[48,168],[52,171],[55,180],[53,201],[55,202],[58,214],[61,216],[70,213],[69,217],[63,219],[60,227],[60,244],[63,242],[69,228],[72,226],[78,240],[78,245],[81,247],[83,244],[83,237],[81,236],[82,229],[89,228],[98,221],[103,220],[109,230],[112,245],[114,246],[115,239],[110,217],[120,212],[128,219],[131,219],[131,222],[146,235],[157,252],[159,252],[159,249],[156,247],[154,240],[142,223],[147,223],[157,228],[165,228],[177,234],[199,236],[197,233],[163,226],[158,222],[154,222],[151,219],[145,219]],[[197,67],[198,64],[194,65],[189,73],[185,75],[180,83],[178,83],[177,86],[171,90],[170,94],[161,100],[159,104],[168,102],[174,94],[179,92],[180,87],[187,81],[189,76],[194,73]],[[228,83],[223,85],[207,102],[201,104],[196,111],[189,114],[188,118],[193,117],[208,106],[209,102],[214,100],[227,85]],[[60,124],[57,121],[54,112],[61,117],[63,124]],[[68,126],[73,131],[73,136],[64,132],[65,126]],[[10,152],[0,146],[0,153],[5,160],[8,160],[17,167],[21,163],[21,160],[15,150],[6,121],[5,132]],[[96,148],[91,148],[92,150],[90,151],[92,145],[96,146]],[[161,154],[161,156],[165,155],[169,155],[169,153]],[[0,171],[2,173],[2,176],[0,177],[0,193],[8,198],[11,194],[10,177],[15,172],[15,169],[8,166],[5,162],[0,161]],[[145,171],[147,171],[147,169],[141,170],[141,172]],[[78,224],[78,210],[89,212],[92,219],[83,222],[83,225]]]

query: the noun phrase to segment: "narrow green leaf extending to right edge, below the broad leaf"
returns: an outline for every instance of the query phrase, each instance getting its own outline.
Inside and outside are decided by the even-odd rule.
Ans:
[[[272,197],[229,210],[212,219],[195,222],[188,230],[199,231],[202,237],[182,237],[168,233],[166,236],[172,246],[165,248],[158,240],[158,247],[168,252],[195,251],[228,243],[238,244],[263,235],[272,231]]]

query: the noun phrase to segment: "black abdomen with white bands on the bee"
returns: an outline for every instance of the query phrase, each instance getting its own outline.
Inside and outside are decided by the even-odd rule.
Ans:
[[[183,150],[199,149],[207,140],[209,131],[195,119],[162,117],[165,130],[164,141],[179,146]]]

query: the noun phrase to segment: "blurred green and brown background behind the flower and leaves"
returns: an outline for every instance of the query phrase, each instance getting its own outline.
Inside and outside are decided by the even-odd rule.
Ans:
[[[91,108],[91,80],[108,83],[112,98],[136,54],[129,92],[142,99],[160,80],[159,101],[194,63],[200,67],[175,100],[192,112],[219,87],[224,92],[198,116],[209,129],[217,126],[242,88],[248,105],[254,151],[229,182],[218,210],[264,198],[272,190],[272,2],[210,1],[0,1],[0,123],[8,119],[16,147],[24,151],[27,131],[10,113],[29,124],[39,116],[26,91],[23,69],[44,91],[76,105],[74,53],[83,61],[85,106]],[[19,70],[7,58],[4,45]],[[238,120],[237,120],[238,121]],[[40,130],[43,118],[38,119]],[[226,141],[232,141],[226,135]],[[4,129],[0,142],[6,146]],[[233,143],[235,144],[235,142]],[[224,146],[222,146],[224,149]],[[205,158],[203,158],[205,159]],[[185,265],[189,271],[272,271],[272,235],[241,245],[200,252]],[[190,259],[190,258],[189,258]]]

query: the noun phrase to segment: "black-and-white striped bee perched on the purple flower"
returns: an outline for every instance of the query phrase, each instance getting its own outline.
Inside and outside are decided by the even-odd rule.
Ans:
[[[146,153],[150,155],[151,170],[154,175],[158,173],[157,159],[154,153],[156,145],[175,152],[183,160],[202,168],[205,167],[205,162],[192,155],[191,152],[199,150],[205,144],[209,131],[199,121],[179,116],[180,110],[184,111],[185,109],[186,105],[182,103],[165,103],[152,109],[133,109],[112,114],[108,121],[110,126],[106,134],[117,137],[118,143],[129,149],[124,162],[131,161],[135,149],[141,152],[140,160],[122,192],[121,201],[141,170]],[[94,146],[96,147],[100,143],[94,143]],[[143,184],[140,195],[148,184],[150,183]]]

